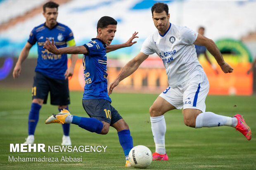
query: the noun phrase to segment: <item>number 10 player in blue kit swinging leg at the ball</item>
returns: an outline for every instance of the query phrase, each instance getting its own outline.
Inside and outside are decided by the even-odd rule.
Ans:
[[[109,16],[103,16],[97,23],[97,37],[87,44],[77,47],[59,48],[54,45],[54,41],[47,41],[44,47],[53,54],[84,54],[83,66],[85,87],[83,93],[83,108],[90,116],[78,117],[72,116],[68,110],[64,109],[59,114],[50,116],[45,123],[73,123],[90,132],[98,134],[107,134],[109,126],[117,130],[119,142],[123,147],[126,156],[126,166],[130,166],[128,154],[133,148],[133,138],[130,136],[130,130],[127,123],[114,107],[111,106],[111,99],[107,92],[107,55],[122,47],[131,46],[135,42],[132,40],[136,37],[135,32],[129,39],[129,45],[118,44],[111,45],[116,32],[116,20]],[[128,41],[129,42],[129,41]],[[106,49],[107,48],[107,49]]]

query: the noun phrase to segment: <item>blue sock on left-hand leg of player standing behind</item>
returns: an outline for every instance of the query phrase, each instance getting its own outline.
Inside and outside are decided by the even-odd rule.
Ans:
[[[31,109],[28,114],[28,135],[34,135],[36,130],[36,125],[39,119],[39,110],[41,109],[41,105],[37,103],[31,104]]]

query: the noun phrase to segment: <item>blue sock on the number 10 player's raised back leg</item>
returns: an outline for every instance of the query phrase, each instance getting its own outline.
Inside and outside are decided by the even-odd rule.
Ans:
[[[79,118],[80,121],[78,123]],[[73,116],[72,123],[78,125],[80,128],[84,128],[85,130],[98,134],[103,128],[103,123],[95,118]]]

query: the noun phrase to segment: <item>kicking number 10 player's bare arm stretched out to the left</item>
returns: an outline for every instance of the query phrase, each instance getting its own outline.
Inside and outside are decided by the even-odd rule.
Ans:
[[[50,51],[53,54],[87,54],[88,51],[87,49],[83,46],[73,46],[73,47],[64,47],[64,48],[59,48],[57,49],[57,47],[55,46],[53,40],[52,42],[50,42],[50,40],[48,38],[46,38],[45,44],[44,44],[44,48],[47,49],[48,51]]]

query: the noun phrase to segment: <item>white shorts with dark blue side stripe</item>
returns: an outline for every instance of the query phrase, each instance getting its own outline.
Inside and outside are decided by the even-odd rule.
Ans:
[[[209,92],[209,81],[203,72],[181,85],[166,88],[159,96],[176,109],[199,109],[205,112],[205,99]]]

